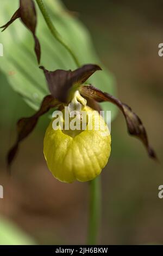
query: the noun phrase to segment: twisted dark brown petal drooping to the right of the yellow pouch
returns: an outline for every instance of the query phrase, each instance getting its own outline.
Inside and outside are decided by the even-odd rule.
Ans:
[[[119,99],[116,99],[109,93],[102,92],[93,86],[80,87],[80,93],[83,95],[83,97],[89,97],[96,100],[97,102],[111,102],[117,105],[118,108],[120,108],[120,110],[122,111],[124,117],[126,118],[129,134],[136,136],[143,142],[148,151],[149,157],[157,159],[154,150],[151,148],[151,146],[149,146],[147,132],[142,124],[142,121],[128,105],[122,103]]]

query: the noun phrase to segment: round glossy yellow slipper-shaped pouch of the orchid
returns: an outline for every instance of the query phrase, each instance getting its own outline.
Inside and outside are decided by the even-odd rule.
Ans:
[[[54,119],[46,130],[43,152],[48,169],[62,182],[92,180],[101,173],[110,156],[111,136],[103,117],[89,106],[82,111],[88,117],[85,130],[54,130]],[[97,124],[99,129],[95,129]]]

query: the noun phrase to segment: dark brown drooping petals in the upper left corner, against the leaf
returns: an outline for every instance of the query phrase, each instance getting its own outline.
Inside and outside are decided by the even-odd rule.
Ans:
[[[35,53],[37,57],[37,62],[40,63],[41,48],[40,48],[39,40],[37,39],[35,34],[37,17],[36,17],[35,4],[33,0],[20,0],[20,8],[11,17],[10,21],[0,28],[4,28],[3,29],[4,31],[12,22],[14,22],[18,18],[21,18],[21,21],[23,22],[23,24],[33,34],[33,37],[35,40]]]

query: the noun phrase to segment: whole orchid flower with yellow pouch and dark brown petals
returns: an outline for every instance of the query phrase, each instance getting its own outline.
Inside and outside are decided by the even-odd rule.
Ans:
[[[4,27],[8,26],[9,23]],[[86,64],[73,71],[62,69],[49,71],[43,66],[40,69],[45,74],[51,94],[43,98],[40,108],[35,114],[18,120],[17,139],[7,156],[9,171],[20,142],[34,130],[42,115],[49,109],[55,108],[62,109],[64,117],[60,117],[59,129],[53,127],[53,124],[56,124],[56,118],[54,118],[45,134],[44,154],[49,170],[52,171],[54,177],[63,182],[89,181],[95,178],[108,162],[111,150],[108,126],[95,111],[100,110],[98,103],[101,102],[111,102],[121,110],[126,119],[129,134],[140,139],[146,147],[148,156],[157,160],[155,151],[149,145],[146,129],[139,116],[127,104],[122,103],[121,100],[111,96],[111,94],[102,92],[92,85],[84,85],[84,82],[93,73],[101,70],[99,66]],[[86,99],[87,104],[92,109],[86,106]],[[66,126],[67,118],[65,117],[67,115],[63,110],[64,106],[68,108],[68,120],[72,121],[71,124],[73,124],[70,125],[70,129],[67,129]],[[85,122],[83,122],[85,115],[82,111],[86,112]],[[74,115],[75,118],[73,118]],[[80,127],[76,127],[75,123],[80,124]],[[92,129],[90,129],[90,124],[92,124]]]

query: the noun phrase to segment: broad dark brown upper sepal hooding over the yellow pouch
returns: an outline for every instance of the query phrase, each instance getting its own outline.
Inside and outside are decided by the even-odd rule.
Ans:
[[[70,88],[75,84],[82,84],[85,82],[96,70],[101,70],[97,65],[87,64],[74,71],[57,69],[55,71],[48,71],[44,67],[43,70],[49,91],[52,95],[61,102],[67,102]]]

